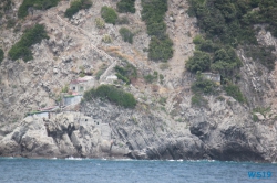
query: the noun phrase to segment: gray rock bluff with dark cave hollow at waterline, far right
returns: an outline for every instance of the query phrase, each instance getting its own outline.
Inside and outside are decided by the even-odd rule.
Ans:
[[[276,129],[250,121],[227,122],[217,127],[206,120],[192,125],[191,132],[206,144],[207,157],[224,161],[274,162]]]

